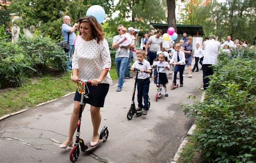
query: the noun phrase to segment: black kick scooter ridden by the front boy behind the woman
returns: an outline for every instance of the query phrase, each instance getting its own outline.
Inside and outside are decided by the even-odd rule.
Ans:
[[[134,97],[135,97],[135,91],[136,91],[136,86],[137,86],[137,82],[138,82],[138,73],[140,72],[140,70],[138,68],[134,68],[134,71],[137,72],[136,73],[136,78],[135,78],[135,83],[134,83],[134,87],[133,87],[133,90],[132,90],[132,104],[131,104],[131,107],[127,113],[127,119],[131,120],[133,115],[136,114],[136,115],[139,115],[142,113],[142,110],[140,111],[137,111],[136,108],[135,108],[135,103],[134,103]],[[145,73],[148,73],[147,71],[144,71]],[[150,99],[148,99],[148,109],[150,108]]]

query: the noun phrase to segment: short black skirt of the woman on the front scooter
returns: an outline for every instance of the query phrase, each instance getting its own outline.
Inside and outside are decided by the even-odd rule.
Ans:
[[[98,86],[92,86],[91,83],[87,83],[87,87],[85,85],[85,95],[89,98],[84,97],[84,103],[90,104],[95,107],[103,107],[105,102],[105,97],[107,96],[109,90],[109,84],[101,83]],[[88,91],[89,89],[89,91]],[[81,100],[81,94],[76,90],[75,101]]]

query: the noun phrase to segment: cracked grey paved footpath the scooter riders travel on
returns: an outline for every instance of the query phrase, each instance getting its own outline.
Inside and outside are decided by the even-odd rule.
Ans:
[[[187,75],[186,71],[187,68]],[[182,102],[193,102],[188,99],[189,95],[196,96],[197,100],[202,96],[199,90],[202,71],[194,72],[193,76],[185,76],[184,87],[174,90],[170,88],[172,79],[169,79],[169,97],[162,96],[157,102],[156,85],[151,82],[148,115],[134,116],[130,121],[126,114],[131,105],[134,79],[125,80],[121,92],[116,92],[117,81],[114,81],[101,109],[100,130],[108,126],[108,140],[90,155],[81,152],[77,162],[171,162],[193,124],[193,119],[186,117],[180,106]],[[71,148],[58,146],[68,134],[73,97],[62,97],[0,121],[0,162],[70,162]],[[86,106],[81,138],[89,142],[91,136],[91,117]]]

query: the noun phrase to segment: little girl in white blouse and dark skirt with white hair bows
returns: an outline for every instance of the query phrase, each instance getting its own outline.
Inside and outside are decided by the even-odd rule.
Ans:
[[[165,97],[168,96],[168,92],[167,92],[167,88],[166,88],[166,84],[168,84],[166,70],[168,70],[168,71],[170,70],[170,65],[167,62],[168,57],[169,57],[169,54],[167,52],[166,52],[166,54],[164,54],[162,51],[158,51],[156,61],[153,63],[153,65],[151,65],[151,67],[153,67],[153,66],[163,66],[163,67],[159,67],[159,69],[158,69],[158,71],[159,71],[158,84],[163,85],[164,90],[165,90]],[[157,74],[155,75],[154,83],[157,84]]]

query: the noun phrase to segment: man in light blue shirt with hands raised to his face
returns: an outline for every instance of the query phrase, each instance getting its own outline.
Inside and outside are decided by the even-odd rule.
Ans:
[[[69,61],[68,61],[68,70],[72,68],[71,66],[71,56],[74,48],[74,41],[76,38],[76,27],[77,23],[73,25],[73,27],[70,25],[71,19],[68,15],[63,16],[63,24],[61,25],[61,33],[63,37],[63,41],[68,40],[68,34],[69,34],[69,51],[68,51],[68,56],[69,56]]]

